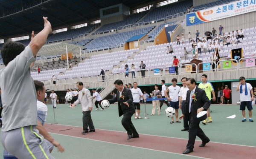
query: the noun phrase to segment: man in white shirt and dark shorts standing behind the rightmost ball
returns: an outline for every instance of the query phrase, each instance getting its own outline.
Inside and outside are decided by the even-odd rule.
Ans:
[[[165,91],[165,96],[170,101],[170,107],[175,109],[175,117],[176,117],[175,122],[180,122],[178,120],[178,116],[179,116],[179,91],[180,91],[180,86],[177,86],[177,79],[173,78],[172,79],[172,85]],[[167,92],[169,92],[169,97],[167,96]],[[170,123],[171,124],[174,123],[173,117],[172,117],[172,122],[170,122]]]

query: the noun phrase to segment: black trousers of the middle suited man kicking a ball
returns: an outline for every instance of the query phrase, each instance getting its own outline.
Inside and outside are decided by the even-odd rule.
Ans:
[[[127,131],[128,135],[134,135],[134,136],[139,136],[139,134],[137,133],[134,125],[131,122],[131,116],[133,116],[134,111],[132,112],[126,112],[124,113],[124,116],[122,118],[122,125],[125,128],[125,130]]]

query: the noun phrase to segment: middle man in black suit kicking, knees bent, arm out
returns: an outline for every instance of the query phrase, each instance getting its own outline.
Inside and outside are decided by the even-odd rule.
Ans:
[[[133,116],[135,111],[131,90],[123,86],[122,80],[116,80],[114,85],[117,89],[116,97],[113,99],[108,99],[108,102],[110,104],[118,102],[119,116],[124,115],[122,118],[122,125],[127,131],[127,139],[138,138],[139,134],[131,122],[131,116]]]

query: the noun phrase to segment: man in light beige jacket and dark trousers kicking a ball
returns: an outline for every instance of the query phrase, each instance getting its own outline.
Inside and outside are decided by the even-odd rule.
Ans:
[[[84,88],[83,82],[77,82],[76,86],[80,90],[79,96],[76,102],[72,104],[71,108],[74,108],[76,105],[81,103],[81,107],[83,111],[83,130],[84,130],[81,133],[95,132],[93,120],[91,117],[91,111],[93,110],[93,101],[90,95],[90,91]],[[88,126],[90,128],[90,131],[88,130]]]

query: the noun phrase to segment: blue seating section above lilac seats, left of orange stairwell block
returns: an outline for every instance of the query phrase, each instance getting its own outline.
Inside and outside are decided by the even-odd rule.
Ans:
[[[112,34],[104,37],[98,37],[94,39],[92,42],[88,43],[85,47],[87,50],[98,49],[98,48],[106,48],[111,47],[112,45],[117,45],[121,43],[125,43],[126,40],[130,39],[134,35],[139,34],[148,34],[151,30],[153,30],[155,26],[136,29],[134,31],[127,31],[123,33]]]

